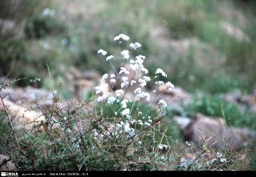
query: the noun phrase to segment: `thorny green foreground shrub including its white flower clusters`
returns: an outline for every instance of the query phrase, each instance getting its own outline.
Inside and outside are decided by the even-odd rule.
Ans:
[[[124,34],[114,38],[124,47],[128,40],[129,37]],[[129,61],[132,51],[139,47],[141,45],[135,42],[130,44],[131,51],[121,51],[124,64]],[[212,145],[207,145],[206,137],[199,138],[199,146],[188,145],[190,148],[184,150],[179,145],[175,149],[178,140],[172,139],[167,133],[171,124],[167,120],[167,104],[171,100],[160,100],[158,107],[152,107],[156,97],[161,94],[159,86],[174,89],[171,82],[162,81],[167,74],[161,68],[156,70],[153,78],[156,89],[152,91],[155,97],[151,98],[149,93],[143,91],[151,78],[139,77],[139,73],[148,73],[143,66],[145,56],[130,59],[130,70],[121,67],[117,71],[113,65],[113,55],[107,57],[104,50],[98,50],[98,54],[105,56],[105,60],[113,66],[114,74],[103,75],[101,81],[105,84],[92,89],[91,100],[77,100],[77,103],[75,101],[68,106],[59,104],[62,86],[60,84],[57,97],[46,61],[53,91],[51,109],[43,109],[35,101],[36,106],[31,106],[30,110],[40,110],[43,119],[35,117],[33,122],[24,123],[18,128],[15,126],[15,129],[9,124],[12,134],[0,151],[11,158],[18,170],[232,171],[236,166],[250,169],[237,160],[241,153],[248,152],[249,146],[240,152],[231,152],[231,146],[219,139],[226,149],[215,152],[210,148]],[[131,80],[126,77],[128,73],[134,74]],[[9,86],[5,81],[2,81],[0,89]],[[113,90],[111,85],[116,82],[120,85],[117,84],[117,89]],[[2,100],[1,94],[0,97]],[[3,100],[2,103],[4,105]],[[7,109],[5,113],[11,123],[12,117]],[[33,124],[32,128],[27,129],[27,124]],[[194,160],[184,159],[188,152],[196,153]]]

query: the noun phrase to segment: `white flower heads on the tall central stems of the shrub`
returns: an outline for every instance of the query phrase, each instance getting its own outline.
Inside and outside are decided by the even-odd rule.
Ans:
[[[119,43],[121,43],[123,41],[128,41],[130,38],[127,37],[127,35],[124,34],[120,34],[117,37],[114,38],[114,41],[119,40]],[[132,50],[136,50],[137,48],[141,47],[142,45],[140,45],[138,42],[135,43],[131,43],[130,44],[130,48]],[[103,56],[107,55],[107,52],[100,49],[98,50],[98,54],[101,54]],[[124,60],[127,60],[130,58],[130,51],[129,50],[123,50],[121,51],[121,55],[123,56]],[[112,62],[114,56],[113,55],[109,55],[108,57],[105,56],[106,61],[108,62]],[[139,73],[145,73],[148,74],[148,70],[144,67],[143,62],[145,61],[145,56],[143,55],[137,55],[135,57],[135,60],[130,59],[130,71],[134,71],[135,74],[139,74]],[[112,64],[111,64],[112,65]],[[112,65],[113,66],[113,65]],[[116,70],[115,70],[116,71]],[[118,103],[120,105],[119,110],[114,110],[114,114],[117,115],[118,113],[121,116],[126,117],[126,123],[120,123],[117,124],[118,127],[123,127],[124,132],[133,132],[132,129],[129,128],[129,123],[137,123],[140,126],[151,126],[152,124],[152,120],[151,117],[148,116],[148,120],[145,122],[142,122],[142,120],[130,120],[130,118],[132,116],[130,116],[130,114],[132,113],[132,110],[130,110],[129,108],[127,108],[127,103],[129,102],[127,99],[122,99],[119,100],[119,98],[122,96],[122,94],[124,93],[123,89],[126,89],[126,91],[129,89],[130,87],[134,87],[137,84],[137,89],[134,90],[134,93],[136,94],[135,98],[130,99],[130,102],[133,101],[133,103],[135,103],[136,100],[146,100],[146,101],[150,101],[150,95],[149,93],[146,93],[144,91],[142,91],[142,88],[146,86],[146,84],[151,81],[151,78],[148,76],[143,76],[143,78],[139,78],[137,81],[136,80],[130,80],[129,78],[126,77],[127,74],[130,73],[130,71],[128,71],[126,68],[121,67],[120,71],[117,72],[117,79],[118,81],[121,81],[121,85],[120,85],[120,89],[114,91],[111,88],[112,83],[116,83],[117,79],[116,79],[116,74],[111,74],[110,75],[110,83],[107,82],[107,78],[108,78],[108,74],[104,74],[103,77],[101,78],[102,82],[105,82],[104,86],[102,87],[95,87],[95,93],[99,94],[97,101],[106,101],[108,104],[114,104],[114,103]],[[155,84],[159,87],[161,85],[164,85],[164,81],[159,80],[160,79],[160,75],[163,77],[167,77],[167,74],[161,70],[161,68],[158,68],[156,70],[156,77],[158,78],[158,81],[155,82]],[[166,83],[167,89],[168,90],[172,90],[174,89],[174,85],[171,82],[167,82]],[[103,94],[101,95],[101,91],[103,91],[105,89],[105,87],[108,87],[108,89],[111,90],[111,92],[108,91],[104,91]],[[125,93],[126,93],[125,91]],[[156,93],[156,90],[153,90],[153,93]],[[113,95],[111,95],[113,94]],[[100,96],[101,95],[101,96]],[[158,102],[159,107],[166,107],[167,103],[164,100],[159,100]],[[141,112],[138,113],[142,114]],[[143,119],[145,119],[145,117],[143,117]],[[159,146],[161,148],[161,146]]]

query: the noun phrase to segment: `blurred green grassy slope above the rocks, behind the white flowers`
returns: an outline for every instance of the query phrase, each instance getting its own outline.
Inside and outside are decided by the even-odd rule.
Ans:
[[[15,86],[31,85],[37,77],[37,87],[50,89],[47,60],[53,79],[62,81],[63,93],[68,93],[69,67],[108,73],[111,67],[97,51],[120,55],[113,38],[123,33],[129,44],[142,44],[133,57],[145,55],[148,76],[162,68],[165,81],[190,93],[252,93],[255,8],[255,1],[248,0],[1,0],[0,76],[20,61],[9,78],[26,79]]]

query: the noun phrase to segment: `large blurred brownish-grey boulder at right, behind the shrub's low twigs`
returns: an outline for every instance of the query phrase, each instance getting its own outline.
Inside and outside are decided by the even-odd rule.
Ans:
[[[241,150],[243,146],[248,146],[254,139],[254,133],[248,129],[229,128],[221,117],[207,117],[201,113],[196,114],[187,127],[181,131],[181,134],[185,140],[195,142],[196,145],[199,145],[199,139],[202,137],[211,137],[207,140],[207,144],[212,145],[211,147],[215,149],[220,149],[223,146],[223,142],[217,139],[217,137],[222,137],[223,141],[232,145],[231,149],[236,151]]]

